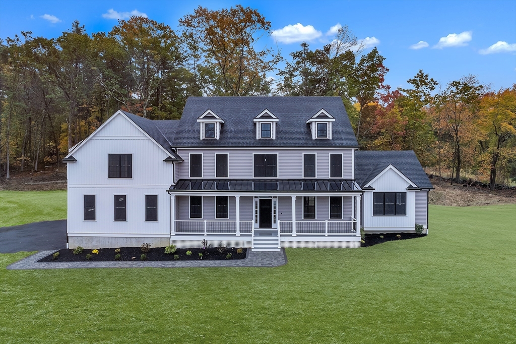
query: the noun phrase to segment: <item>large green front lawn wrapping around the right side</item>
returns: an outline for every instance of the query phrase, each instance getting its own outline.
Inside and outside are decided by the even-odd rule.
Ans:
[[[5,343],[510,343],[516,206],[430,207],[430,235],[288,249],[279,268],[8,271]]]

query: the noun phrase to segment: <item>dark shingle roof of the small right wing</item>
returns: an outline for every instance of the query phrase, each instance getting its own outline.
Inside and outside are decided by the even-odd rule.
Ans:
[[[361,187],[365,186],[389,165],[394,166],[418,187],[433,189],[432,183],[412,150],[356,151],[355,180]]]

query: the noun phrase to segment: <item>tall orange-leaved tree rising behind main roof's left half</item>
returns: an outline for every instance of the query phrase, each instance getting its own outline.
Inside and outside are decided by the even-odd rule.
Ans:
[[[236,5],[208,10],[199,6],[179,20],[193,91],[208,96],[264,95],[270,90],[272,72],[280,54],[270,48],[256,50],[256,42],[270,35],[270,22],[259,11]]]

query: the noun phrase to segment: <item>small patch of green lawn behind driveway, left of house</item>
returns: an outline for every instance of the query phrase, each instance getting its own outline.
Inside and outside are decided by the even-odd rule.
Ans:
[[[0,191],[0,227],[67,217],[67,193],[58,191]]]

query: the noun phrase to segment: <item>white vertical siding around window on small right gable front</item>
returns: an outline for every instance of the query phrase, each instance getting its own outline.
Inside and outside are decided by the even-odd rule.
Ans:
[[[409,183],[401,178],[394,170],[388,169],[370,186],[374,191],[364,192],[363,226],[366,231],[413,231],[415,226],[415,191],[407,190]],[[373,193],[374,192],[406,192],[407,215],[374,216]],[[425,215],[426,216],[426,215]]]

